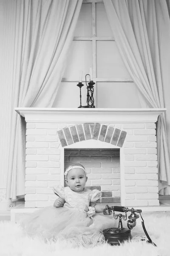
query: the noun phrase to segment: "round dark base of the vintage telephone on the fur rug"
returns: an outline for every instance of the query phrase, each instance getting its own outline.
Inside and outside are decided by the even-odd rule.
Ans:
[[[111,245],[120,245],[125,240],[130,240],[132,238],[131,232],[127,228],[115,228],[111,227],[103,230],[105,241]]]

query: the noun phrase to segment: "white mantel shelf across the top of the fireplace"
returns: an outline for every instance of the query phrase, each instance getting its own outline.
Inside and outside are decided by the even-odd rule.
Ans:
[[[156,122],[166,108],[15,108],[26,122]]]

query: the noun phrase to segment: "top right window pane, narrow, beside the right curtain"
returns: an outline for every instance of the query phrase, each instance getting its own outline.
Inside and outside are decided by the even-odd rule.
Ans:
[[[96,3],[96,35],[113,37],[103,3]]]

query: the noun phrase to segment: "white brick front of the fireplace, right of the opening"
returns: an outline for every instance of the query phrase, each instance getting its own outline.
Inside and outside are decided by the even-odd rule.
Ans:
[[[124,149],[126,206],[159,205],[156,125],[146,123],[122,126],[125,129],[133,128],[133,137],[127,137]],[[133,141],[133,145],[128,141]],[[134,156],[134,161],[126,157],[129,155]]]

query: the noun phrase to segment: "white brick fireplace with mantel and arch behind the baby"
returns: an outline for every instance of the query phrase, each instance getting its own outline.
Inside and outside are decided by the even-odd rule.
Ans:
[[[85,165],[101,202],[159,206],[156,121],[166,109],[15,110],[26,120],[26,208],[53,204],[70,161]]]

